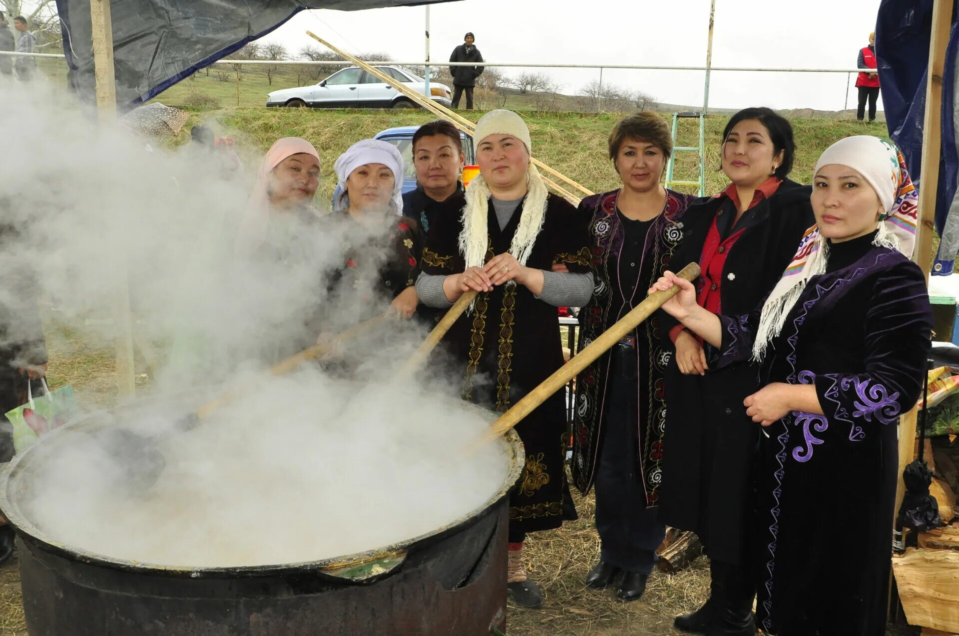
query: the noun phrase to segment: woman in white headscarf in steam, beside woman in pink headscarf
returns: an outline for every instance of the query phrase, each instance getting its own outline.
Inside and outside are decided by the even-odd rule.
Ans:
[[[334,305],[409,319],[419,305],[416,278],[423,249],[419,223],[403,211],[404,162],[392,144],[363,139],[333,166],[339,180],[334,222],[346,241],[345,260],[331,280]],[[388,308],[386,305],[388,304]]]

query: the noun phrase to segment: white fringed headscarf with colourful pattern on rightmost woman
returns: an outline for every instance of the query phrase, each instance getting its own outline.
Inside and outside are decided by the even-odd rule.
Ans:
[[[876,191],[886,210],[878,223],[873,244],[901,251],[911,257],[916,242],[919,193],[912,185],[902,153],[896,145],[878,137],[856,135],[827,148],[816,163],[813,175],[823,166],[848,166],[863,176]],[[783,330],[786,316],[799,300],[813,276],[826,272],[829,242],[813,225],[799,243],[799,250],[785,268],[783,278],[773,287],[762,305],[760,327],[753,344],[753,360],[760,361],[766,347]]]

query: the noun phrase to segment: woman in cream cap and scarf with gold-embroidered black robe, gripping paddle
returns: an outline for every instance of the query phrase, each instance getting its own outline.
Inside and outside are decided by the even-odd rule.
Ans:
[[[526,124],[494,110],[477,124],[480,176],[464,199],[433,216],[417,290],[432,307],[450,307],[479,291],[472,310],[446,336],[461,377],[462,398],[499,412],[523,398],[563,364],[556,307],[581,306],[593,290],[585,219],[547,193],[531,164]],[[550,271],[565,262],[568,273]],[[563,465],[566,408],[559,394],[516,427],[526,469],[510,496],[508,590],[528,607],[542,591],[527,579],[526,533],[575,518]]]

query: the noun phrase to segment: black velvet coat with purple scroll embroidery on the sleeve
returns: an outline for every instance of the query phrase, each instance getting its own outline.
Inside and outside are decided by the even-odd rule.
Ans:
[[[719,366],[749,358],[759,317],[721,317]],[[922,271],[867,236],[833,245],[771,343],[761,384],[813,385],[825,415],[794,411],[760,436],[753,547],[766,633],[885,633],[897,422],[920,396],[931,329]]]

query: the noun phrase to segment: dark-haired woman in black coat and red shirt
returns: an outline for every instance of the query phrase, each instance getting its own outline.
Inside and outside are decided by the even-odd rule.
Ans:
[[[760,304],[780,279],[815,219],[809,187],[787,177],[792,126],[769,108],[746,108],[723,130],[722,170],[730,184],[690,205],[674,268],[698,262],[697,301],[713,313]],[[677,617],[684,631],[752,634],[755,589],[748,576],[746,525],[757,427],[742,400],[756,392],[756,369],[742,363],[710,372],[702,340],[663,317],[675,346],[667,368],[667,448],[660,518],[696,533],[710,557],[710,600]]]

